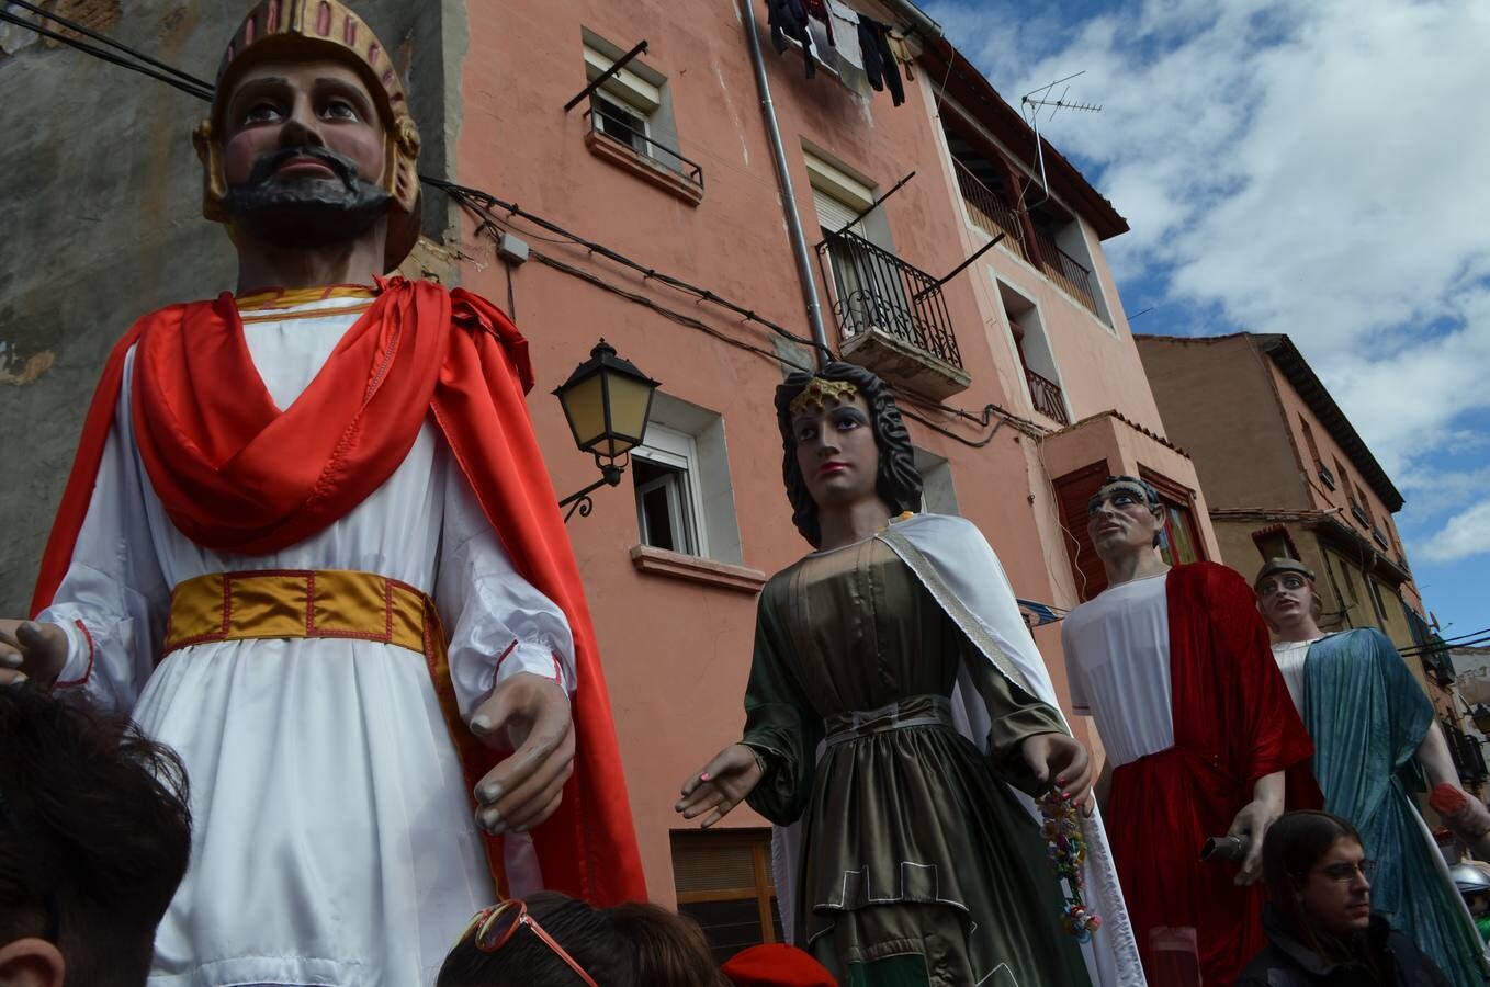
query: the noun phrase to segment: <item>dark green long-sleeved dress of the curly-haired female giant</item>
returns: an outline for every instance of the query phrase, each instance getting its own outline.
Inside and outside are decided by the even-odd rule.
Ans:
[[[992,721],[988,755],[951,726],[961,664]],[[1059,715],[995,671],[884,542],[766,584],[745,713],[764,767],[751,807],[803,823],[794,938],[840,983],[1088,984],[1039,828],[1000,783],[1036,792],[1019,746],[1065,732]]]

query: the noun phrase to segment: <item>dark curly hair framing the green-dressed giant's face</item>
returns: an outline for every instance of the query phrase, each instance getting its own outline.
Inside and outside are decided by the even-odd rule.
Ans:
[[[797,436],[791,429],[791,402],[806,390],[814,377],[854,384],[869,405],[869,421],[875,429],[875,447],[879,450],[875,493],[890,508],[890,514],[916,511],[921,506],[921,473],[916,470],[910,433],[900,420],[900,408],[885,381],[852,363],[827,363],[817,374],[797,372],[787,377],[785,383],[776,387],[776,426],[781,429],[784,453],[781,475],[787,482],[787,499],[791,502],[791,523],[812,548],[821,548],[818,505],[812,500],[808,481],[797,466]]]

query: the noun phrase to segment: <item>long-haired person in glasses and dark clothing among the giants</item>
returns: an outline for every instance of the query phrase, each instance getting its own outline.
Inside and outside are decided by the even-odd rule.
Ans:
[[[1268,944],[1237,987],[1450,987],[1413,939],[1371,911],[1375,869],[1344,819],[1278,817],[1262,843]]]

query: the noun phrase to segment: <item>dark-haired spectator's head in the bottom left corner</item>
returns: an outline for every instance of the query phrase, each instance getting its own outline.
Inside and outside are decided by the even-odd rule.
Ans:
[[[185,768],[30,686],[0,688],[0,984],[142,987],[191,855]]]

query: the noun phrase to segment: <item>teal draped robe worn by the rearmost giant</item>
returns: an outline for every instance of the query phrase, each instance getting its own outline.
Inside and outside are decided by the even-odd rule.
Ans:
[[[1417,941],[1460,987],[1486,983],[1480,936],[1423,817],[1398,776],[1433,722],[1433,704],[1392,642],[1359,628],[1325,637],[1304,665],[1304,725],[1325,808],[1377,860],[1374,911]]]

